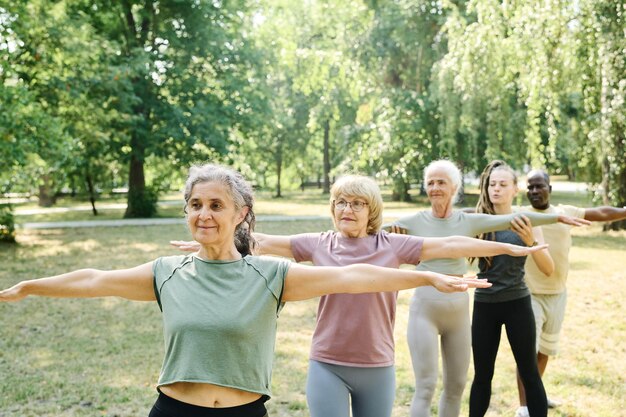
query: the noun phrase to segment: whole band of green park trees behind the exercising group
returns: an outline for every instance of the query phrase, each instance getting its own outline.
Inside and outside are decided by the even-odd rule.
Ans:
[[[143,216],[192,162],[401,200],[432,159],[499,158],[624,205],[623,27],[611,0],[0,1],[0,181]]]

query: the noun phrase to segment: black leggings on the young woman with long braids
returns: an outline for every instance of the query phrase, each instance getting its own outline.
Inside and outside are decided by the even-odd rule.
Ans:
[[[537,369],[535,318],[530,296],[500,303],[474,301],[472,351],[474,381],[470,392],[470,417],[482,417],[489,408],[491,380],[500,345],[502,325],[526,390],[531,417],[546,417],[548,401]]]

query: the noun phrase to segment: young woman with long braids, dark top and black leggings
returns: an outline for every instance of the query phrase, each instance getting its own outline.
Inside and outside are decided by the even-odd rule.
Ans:
[[[517,176],[503,161],[493,161],[480,177],[480,199],[477,213],[507,214],[517,194]],[[543,243],[541,229],[533,229],[524,217],[512,223],[511,230],[488,233],[482,239],[520,246]],[[554,271],[547,249],[531,256],[546,275]],[[530,291],[524,283],[524,258],[499,255],[480,258],[479,277],[488,278],[491,288],[474,294],[472,316],[472,352],[474,381],[470,392],[470,417],[482,417],[489,408],[502,326],[506,329],[519,374],[526,389],[528,411],[533,417],[546,417],[546,392],[537,369],[535,319]]]

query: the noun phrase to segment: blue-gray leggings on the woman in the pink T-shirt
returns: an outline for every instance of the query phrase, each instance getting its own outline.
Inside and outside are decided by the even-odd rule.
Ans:
[[[311,417],[390,417],[394,366],[360,368],[309,361],[306,398]]]

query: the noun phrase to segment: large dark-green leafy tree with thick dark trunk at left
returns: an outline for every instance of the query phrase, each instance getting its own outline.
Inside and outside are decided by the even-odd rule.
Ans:
[[[141,191],[146,158],[186,165],[224,154],[234,132],[257,123],[262,77],[243,30],[251,16],[245,1],[36,0],[12,10],[1,29],[15,50],[2,75],[23,83],[60,132],[45,136],[54,146],[18,148],[39,152],[41,175],[61,174],[53,188],[76,177],[110,184],[107,174],[122,163],[138,190],[129,206],[141,207],[137,199],[149,198]]]

